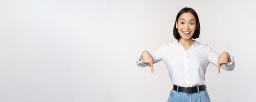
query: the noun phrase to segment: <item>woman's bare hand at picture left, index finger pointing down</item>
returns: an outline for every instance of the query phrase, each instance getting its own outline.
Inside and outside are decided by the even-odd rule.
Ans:
[[[140,61],[146,63],[149,67],[151,67],[151,73],[154,72],[153,68],[153,57],[148,51],[143,51],[142,54],[140,55]]]

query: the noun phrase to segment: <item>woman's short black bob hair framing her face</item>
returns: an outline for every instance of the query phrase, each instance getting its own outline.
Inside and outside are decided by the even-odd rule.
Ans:
[[[186,13],[186,12],[190,12],[191,14],[194,15],[195,17],[195,21],[196,21],[196,24],[198,24],[197,28],[195,29],[195,33],[193,34],[192,38],[193,39],[196,39],[199,37],[200,35],[200,23],[199,23],[199,18],[198,18],[198,15],[197,13],[195,12],[195,10],[193,10],[192,8],[182,8],[179,13],[177,14],[177,17],[176,17],[176,20],[175,20],[175,23],[174,23],[174,27],[173,27],[173,36],[175,37],[175,39],[179,40],[180,39],[180,34],[178,32],[178,29],[176,28],[176,22],[178,21],[179,17],[181,14],[183,13]]]

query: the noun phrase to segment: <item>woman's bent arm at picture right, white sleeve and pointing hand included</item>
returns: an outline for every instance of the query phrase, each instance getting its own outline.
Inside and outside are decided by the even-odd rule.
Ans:
[[[225,71],[233,71],[235,68],[234,57],[228,54],[227,52],[223,52],[221,55],[216,53],[209,45],[208,45],[208,59],[209,62],[215,66],[218,66],[218,69],[224,69]],[[218,70],[220,73],[220,71]]]

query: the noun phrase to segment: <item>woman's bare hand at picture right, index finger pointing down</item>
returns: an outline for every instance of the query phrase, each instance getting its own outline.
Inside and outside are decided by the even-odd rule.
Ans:
[[[226,64],[227,62],[231,62],[230,55],[227,52],[223,52],[218,57],[218,73],[221,73],[221,65]]]

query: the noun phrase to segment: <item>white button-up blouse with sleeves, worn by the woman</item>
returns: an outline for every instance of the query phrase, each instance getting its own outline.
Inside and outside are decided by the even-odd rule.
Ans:
[[[153,63],[163,60],[172,84],[182,87],[204,85],[204,75],[209,62],[218,66],[219,57],[219,54],[209,45],[201,44],[196,40],[187,51],[178,40],[175,40],[164,43],[150,54],[153,57]],[[234,57],[230,55],[230,59],[231,62],[221,65],[225,71],[232,71],[235,68]],[[140,54],[137,56],[137,65],[148,66],[143,61],[140,62]]]

